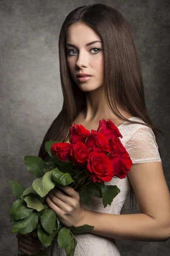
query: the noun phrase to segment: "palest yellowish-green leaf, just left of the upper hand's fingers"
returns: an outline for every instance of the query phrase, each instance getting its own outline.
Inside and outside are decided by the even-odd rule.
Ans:
[[[51,170],[49,172],[46,172],[44,176],[41,178],[38,178],[33,181],[32,186],[34,190],[40,195],[41,197],[44,197],[48,194],[48,192],[54,188],[55,183],[52,180],[52,173],[54,171]]]

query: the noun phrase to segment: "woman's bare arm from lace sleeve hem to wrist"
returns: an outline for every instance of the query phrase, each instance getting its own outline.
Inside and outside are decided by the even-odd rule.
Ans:
[[[141,213],[108,214],[85,209],[77,224],[91,233],[120,240],[167,241],[170,238],[170,193],[161,162],[133,164],[128,172]]]

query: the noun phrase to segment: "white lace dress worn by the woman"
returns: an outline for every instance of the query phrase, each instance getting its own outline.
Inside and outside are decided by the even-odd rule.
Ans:
[[[139,117],[130,117],[132,121],[143,122]],[[142,124],[123,122],[118,126],[122,144],[126,148],[132,163],[162,162],[158,151],[155,135],[150,127]],[[128,175],[124,179],[113,177],[105,185],[116,185],[120,193],[113,199],[111,206],[104,208],[102,198],[91,196],[91,204],[82,204],[83,208],[96,212],[120,214],[125,203],[131,184]],[[75,235],[77,246],[74,256],[120,256],[115,239],[99,236],[94,233],[81,233]],[[44,247],[45,248],[45,247]],[[46,249],[48,256],[65,256],[65,250],[59,249],[57,241]]]

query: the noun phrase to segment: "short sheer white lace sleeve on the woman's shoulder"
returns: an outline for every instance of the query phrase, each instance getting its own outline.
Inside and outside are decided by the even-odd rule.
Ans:
[[[127,140],[125,148],[132,163],[162,162],[152,128],[140,126]]]

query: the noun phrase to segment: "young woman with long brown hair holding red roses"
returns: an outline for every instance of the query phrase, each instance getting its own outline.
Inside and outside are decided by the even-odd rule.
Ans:
[[[119,128],[133,162],[126,178],[113,177],[107,183],[121,191],[111,206],[104,208],[102,198],[96,197],[89,206],[82,204],[79,193],[70,186],[48,193],[48,206],[67,227],[94,226],[91,233],[75,236],[74,255],[119,256],[115,239],[167,241],[170,193],[158,143],[157,131],[161,131],[152,125],[147,112],[139,57],[125,17],[104,4],[82,6],[69,13],[59,34],[59,65],[63,107],[45,134],[39,156],[46,157],[46,141],[68,142],[74,123],[91,131],[97,130],[104,118]],[[136,195],[141,213],[122,215],[130,192],[131,199]],[[17,237],[18,249],[26,255],[40,250],[35,239]],[[65,255],[57,242],[47,252]]]

